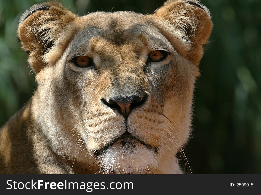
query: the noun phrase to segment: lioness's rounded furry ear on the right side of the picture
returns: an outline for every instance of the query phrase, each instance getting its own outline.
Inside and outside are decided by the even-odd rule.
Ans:
[[[207,7],[197,0],[168,0],[154,14],[157,26],[176,50],[198,65],[212,22]]]

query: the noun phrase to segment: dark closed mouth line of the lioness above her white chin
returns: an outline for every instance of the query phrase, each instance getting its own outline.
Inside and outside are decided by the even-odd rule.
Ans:
[[[128,131],[126,131],[124,134],[122,134],[120,137],[118,137],[111,143],[107,144],[105,147],[94,152],[95,156],[98,157],[99,155],[106,153],[106,151],[116,142],[119,142],[122,145],[122,147],[124,147],[124,148],[126,148],[126,146],[127,146],[127,148],[135,148],[136,143],[140,142],[141,144],[146,146],[146,148],[148,150],[153,150],[155,153],[158,153],[157,147],[153,147],[153,146],[149,145],[148,143],[141,141],[139,138],[134,137],[132,134],[130,134]]]

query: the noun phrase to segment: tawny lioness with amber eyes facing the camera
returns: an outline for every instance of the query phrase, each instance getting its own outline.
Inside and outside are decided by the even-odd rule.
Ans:
[[[0,173],[182,173],[211,28],[197,0],[151,15],[31,7],[17,35],[38,88],[0,131]]]

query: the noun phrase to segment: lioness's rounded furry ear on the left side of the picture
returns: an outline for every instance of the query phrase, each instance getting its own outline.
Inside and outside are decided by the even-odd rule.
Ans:
[[[77,16],[55,1],[36,4],[21,17],[17,29],[18,39],[29,54],[29,63],[38,73],[47,66],[46,54],[57,44],[61,33]]]

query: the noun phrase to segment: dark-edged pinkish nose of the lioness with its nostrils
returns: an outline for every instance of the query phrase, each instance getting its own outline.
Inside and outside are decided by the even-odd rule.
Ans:
[[[135,107],[141,106],[147,99],[147,95],[130,96],[130,97],[111,97],[108,102],[105,99],[102,101],[110,108],[117,108],[122,116],[127,119],[130,112]]]

